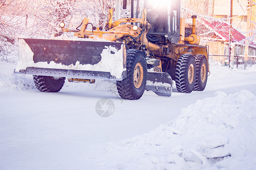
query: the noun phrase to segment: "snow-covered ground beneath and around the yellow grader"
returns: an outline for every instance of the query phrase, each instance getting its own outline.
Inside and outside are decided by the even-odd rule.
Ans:
[[[256,169],[256,66],[210,63],[203,92],[137,101],[106,81],[42,93],[14,67],[0,62],[0,169]]]

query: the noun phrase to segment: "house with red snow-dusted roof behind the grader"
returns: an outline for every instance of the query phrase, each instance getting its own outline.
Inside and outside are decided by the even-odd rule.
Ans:
[[[205,29],[211,30],[209,35],[205,35],[202,40],[209,45],[209,56],[213,60],[219,61],[222,65],[228,62],[229,58],[229,24],[218,20],[201,19],[200,23]],[[245,36],[240,31],[232,29],[232,55],[234,64],[241,64],[245,57]],[[248,63],[256,62],[256,44],[249,42]]]

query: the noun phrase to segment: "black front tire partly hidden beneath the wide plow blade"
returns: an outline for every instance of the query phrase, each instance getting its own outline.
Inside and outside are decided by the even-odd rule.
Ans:
[[[33,75],[36,88],[40,92],[59,92],[65,78],[54,79],[52,76]]]

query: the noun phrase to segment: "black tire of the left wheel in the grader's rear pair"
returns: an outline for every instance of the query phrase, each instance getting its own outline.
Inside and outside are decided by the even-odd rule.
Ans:
[[[189,82],[188,71],[192,69],[191,82]],[[190,93],[196,83],[196,61],[191,54],[181,54],[175,67],[175,83],[177,91]]]

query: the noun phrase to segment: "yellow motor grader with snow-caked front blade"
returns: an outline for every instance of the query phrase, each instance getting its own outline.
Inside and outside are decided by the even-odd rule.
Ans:
[[[73,39],[19,39],[14,73],[33,75],[42,92],[60,91],[65,78],[90,83],[112,80],[119,96],[129,100],[141,98],[144,90],[171,96],[172,80],[179,92],[203,91],[208,52],[207,46],[199,45],[196,16],[192,27],[186,27],[180,18],[180,0],[137,0],[136,8],[134,1],[131,18],[113,21],[113,9],[109,10],[105,31],[85,18],[76,30],[60,23],[63,32],[74,32]]]

